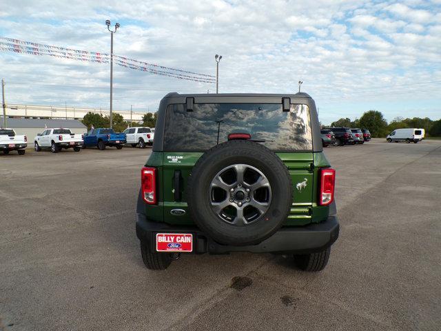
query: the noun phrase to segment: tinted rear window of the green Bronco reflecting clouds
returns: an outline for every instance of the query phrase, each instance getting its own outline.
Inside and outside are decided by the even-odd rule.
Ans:
[[[170,105],[165,115],[165,151],[209,150],[228,140],[230,133],[249,133],[270,150],[312,150],[311,120],[306,105],[280,103],[196,103],[187,112],[182,104]]]

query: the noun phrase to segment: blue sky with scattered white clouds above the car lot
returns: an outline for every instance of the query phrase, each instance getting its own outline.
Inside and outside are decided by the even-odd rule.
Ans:
[[[0,37],[110,52],[205,74],[220,92],[291,93],[304,83],[322,123],[369,109],[441,118],[441,0],[0,0]],[[10,103],[109,107],[110,68],[0,52]],[[167,92],[207,83],[114,67],[114,108],[155,111]]]

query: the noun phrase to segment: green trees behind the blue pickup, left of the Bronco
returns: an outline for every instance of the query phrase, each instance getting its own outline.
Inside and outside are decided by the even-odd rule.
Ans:
[[[149,128],[154,128],[156,126],[156,115],[157,113],[147,112],[143,116],[143,123],[125,121],[121,114],[113,113],[112,124],[113,129],[116,132],[123,132],[125,129],[132,126],[148,126]],[[109,128],[110,118],[106,115],[96,114],[95,112],[88,112],[84,115],[81,122],[88,127],[88,130],[92,128]]]

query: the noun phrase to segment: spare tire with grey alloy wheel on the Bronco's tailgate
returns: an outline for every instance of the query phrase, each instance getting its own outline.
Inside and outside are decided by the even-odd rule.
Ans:
[[[186,190],[194,222],[225,245],[255,245],[274,234],[287,219],[292,191],[280,158],[246,140],[220,143],[205,152]]]

